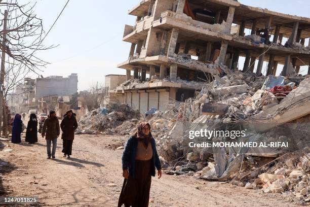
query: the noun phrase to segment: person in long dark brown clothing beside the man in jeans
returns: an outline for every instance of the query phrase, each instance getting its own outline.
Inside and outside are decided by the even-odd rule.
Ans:
[[[62,130],[61,139],[63,147],[63,157],[66,157],[68,155],[68,158],[70,158],[70,155],[72,153],[72,144],[74,140],[74,131],[76,128],[78,128],[78,122],[76,121],[72,110],[67,111],[65,117],[60,123],[60,127]]]

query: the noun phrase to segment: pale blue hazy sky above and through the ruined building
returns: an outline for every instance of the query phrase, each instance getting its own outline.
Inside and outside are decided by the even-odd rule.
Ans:
[[[20,2],[29,2],[20,0]],[[38,0],[34,11],[43,19],[45,31],[48,31],[67,0]],[[135,16],[128,15],[128,10],[137,5],[139,0],[70,0],[62,15],[44,40],[46,46],[56,48],[37,51],[36,56],[49,62],[42,68],[46,76],[64,76],[77,73],[78,89],[85,90],[95,82],[104,83],[108,74],[122,74],[126,71],[117,68],[117,64],[128,58],[130,43],[123,42],[125,24],[134,25]],[[242,4],[267,8],[285,14],[310,17],[308,0],[240,0]],[[244,58],[239,65],[243,66]],[[257,64],[257,63],[256,63]],[[266,64],[263,66],[263,70]],[[278,67],[278,73],[280,69]],[[302,70],[302,68],[301,68]],[[37,75],[30,74],[32,78]]]

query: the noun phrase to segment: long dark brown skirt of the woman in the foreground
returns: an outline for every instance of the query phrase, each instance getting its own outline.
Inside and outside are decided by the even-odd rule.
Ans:
[[[151,159],[136,160],[135,178],[128,177],[124,179],[119,204],[121,207],[147,207],[149,200],[149,190],[151,186]]]

